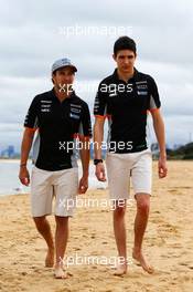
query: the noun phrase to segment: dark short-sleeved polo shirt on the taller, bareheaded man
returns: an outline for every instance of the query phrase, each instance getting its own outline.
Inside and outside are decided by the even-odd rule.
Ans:
[[[154,80],[135,69],[133,76],[119,80],[117,69],[104,79],[95,98],[94,115],[108,117],[109,152],[135,153],[147,149],[147,114],[161,106]]]

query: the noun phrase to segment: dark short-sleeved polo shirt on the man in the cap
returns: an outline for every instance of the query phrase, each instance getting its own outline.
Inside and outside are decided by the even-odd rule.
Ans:
[[[87,103],[75,92],[61,102],[52,91],[36,95],[25,117],[24,126],[39,129],[34,143],[34,163],[45,170],[62,170],[74,164],[77,135],[92,137]],[[74,144],[73,144],[74,143]]]

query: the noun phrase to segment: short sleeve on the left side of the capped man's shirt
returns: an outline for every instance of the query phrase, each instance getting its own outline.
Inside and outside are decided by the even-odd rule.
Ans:
[[[25,116],[24,127],[29,127],[32,129],[36,129],[39,127],[37,109],[39,109],[37,98],[34,97]]]

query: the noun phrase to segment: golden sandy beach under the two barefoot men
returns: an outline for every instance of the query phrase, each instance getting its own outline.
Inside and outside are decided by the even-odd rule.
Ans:
[[[128,274],[118,278],[107,264],[71,265],[71,277],[55,280],[44,268],[46,246],[30,216],[28,195],[0,198],[0,291],[193,291],[193,161],[169,161],[169,176],[160,180],[153,168],[151,212],[144,254],[153,274],[130,262]],[[89,190],[82,199],[105,199],[108,190]],[[136,205],[127,209],[128,257],[133,242]],[[54,217],[49,217],[54,232]],[[110,208],[77,208],[71,219],[66,255],[116,257]]]

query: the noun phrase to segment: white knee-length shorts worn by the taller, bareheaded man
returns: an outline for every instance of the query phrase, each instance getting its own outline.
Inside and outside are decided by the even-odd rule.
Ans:
[[[129,199],[130,178],[135,195],[151,195],[152,154],[149,148],[139,153],[108,153],[106,166],[110,199]]]

